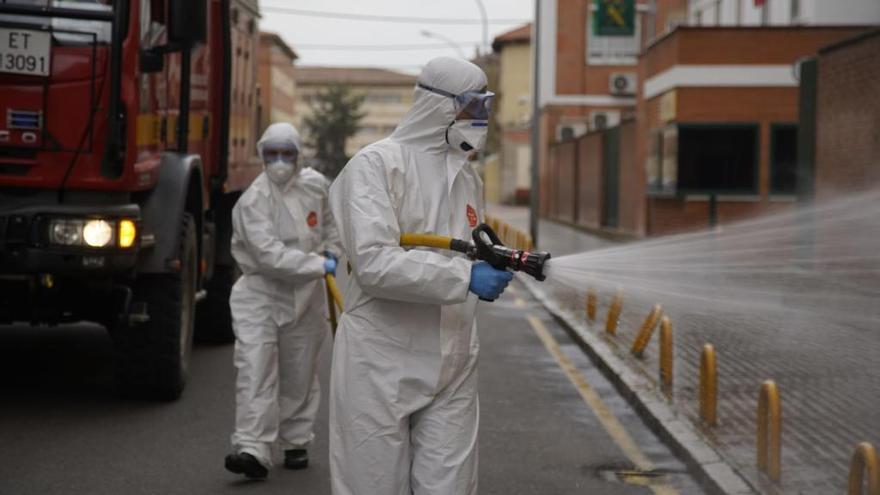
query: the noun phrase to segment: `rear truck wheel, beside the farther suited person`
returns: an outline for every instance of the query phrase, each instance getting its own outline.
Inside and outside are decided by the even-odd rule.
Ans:
[[[196,310],[196,339],[199,342],[228,344],[235,341],[229,294],[238,275],[236,266],[214,266],[214,276],[205,285],[208,295]]]

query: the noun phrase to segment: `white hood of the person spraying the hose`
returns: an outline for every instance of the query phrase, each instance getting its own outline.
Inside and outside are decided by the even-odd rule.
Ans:
[[[453,94],[479,91],[488,84],[482,69],[466,60],[452,57],[438,57],[428,62],[419,74],[418,83]],[[413,94],[413,106],[391,138],[422,151],[449,151],[446,130],[455,121],[453,99],[418,86]]]

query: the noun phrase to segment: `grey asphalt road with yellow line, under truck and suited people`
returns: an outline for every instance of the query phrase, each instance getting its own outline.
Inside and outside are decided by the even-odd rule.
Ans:
[[[524,289],[484,305],[479,324],[481,494],[701,493]],[[329,345],[324,357],[326,387]],[[230,346],[196,347],[174,403],[116,398],[110,362],[99,327],[0,327],[0,494],[329,493],[326,400],[312,466],[247,482],[222,467]],[[639,466],[665,474],[614,473]]]

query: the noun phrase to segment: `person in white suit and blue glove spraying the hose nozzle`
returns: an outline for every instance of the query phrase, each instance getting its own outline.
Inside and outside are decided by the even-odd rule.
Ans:
[[[330,188],[352,275],[333,349],[334,495],[477,491],[477,299],[512,275],[462,255],[400,247],[403,232],[468,239],[483,217],[468,153],[494,95],[476,65],[431,60],[387,139]]]

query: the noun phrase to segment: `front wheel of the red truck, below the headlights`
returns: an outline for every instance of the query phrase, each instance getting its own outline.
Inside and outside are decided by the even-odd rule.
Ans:
[[[189,371],[198,252],[196,225],[184,213],[180,229],[180,270],[138,277],[134,303],[146,303],[149,320],[123,322],[114,332],[116,375],[129,397],[173,400],[180,397]]]

